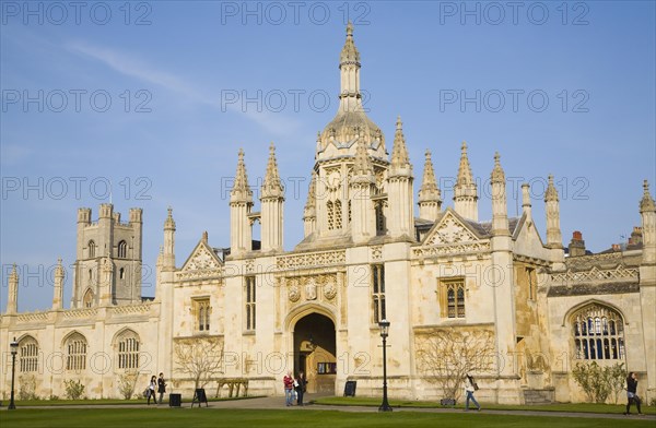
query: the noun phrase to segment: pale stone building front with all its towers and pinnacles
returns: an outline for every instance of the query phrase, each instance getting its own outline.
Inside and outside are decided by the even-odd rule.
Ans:
[[[2,394],[15,337],[19,384],[34,382],[43,397],[62,396],[71,379],[90,397],[117,397],[126,372],[139,373],[139,391],[160,371],[171,379],[169,391],[189,394],[194,376],[184,366],[194,353],[185,349],[206,349],[197,358],[219,362],[206,384],[210,395],[231,382],[247,384],[251,394],[282,394],[288,370],[306,371],[309,392],[339,394],[356,380],[359,394],[379,395],[378,321],[387,319],[393,397],[443,397],[440,370],[467,362],[482,401],[576,402],[584,394],[572,367],[590,360],[624,362],[639,373],[640,393],[656,396],[656,209],[647,183],[642,228],[628,248],[586,254],[576,236],[567,257],[553,178],[544,198],[546,241],[528,185],[522,216],[507,216],[499,155],[491,163],[492,219],[481,222],[462,143],[454,207],[443,207],[426,152],[414,217],[402,122],[396,121],[389,155],[362,108],[351,25],[339,66],[340,107],[317,136],[304,239],[292,251],[283,250],[284,191],[273,145],[259,212],[239,151],[229,249],[212,247],[203,234],[176,264],[168,211],[152,301],[140,297],[141,211],[131,210],[124,224],[104,204],[92,223],[91,210],[81,209],[71,309],[62,308],[62,269],[52,308],[40,312],[16,313],[19,278],[10,277],[0,318]],[[261,241],[253,239],[255,222]]]

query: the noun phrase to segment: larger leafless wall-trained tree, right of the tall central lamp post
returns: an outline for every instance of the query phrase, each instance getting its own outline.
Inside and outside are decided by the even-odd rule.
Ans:
[[[425,380],[442,388],[445,399],[460,397],[469,373],[494,368],[493,333],[489,330],[431,329],[417,336],[417,365]]]

